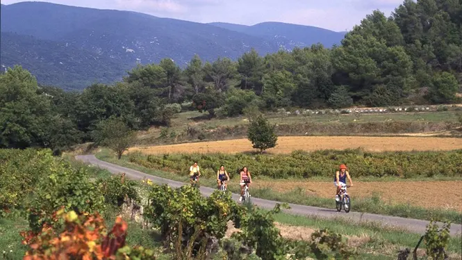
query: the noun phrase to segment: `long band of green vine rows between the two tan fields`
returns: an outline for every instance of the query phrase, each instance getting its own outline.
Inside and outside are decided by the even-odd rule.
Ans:
[[[216,174],[220,165],[232,175],[246,165],[252,176],[274,179],[288,177],[333,177],[340,163],[345,163],[354,177],[462,177],[462,150],[449,152],[364,152],[361,149],[295,151],[292,154],[164,154],[145,156],[129,154],[129,160],[147,168],[168,169],[188,174],[198,161],[206,177]],[[231,177],[232,178],[232,177]]]

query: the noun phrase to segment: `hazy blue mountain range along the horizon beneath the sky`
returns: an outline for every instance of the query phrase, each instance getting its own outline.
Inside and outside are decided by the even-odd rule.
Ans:
[[[202,60],[236,60],[256,49],[265,55],[322,43],[340,44],[345,32],[263,22],[254,26],[201,24],[120,10],[46,2],[0,8],[0,65],[22,65],[44,85],[81,89],[122,79],[136,64],[172,58],[181,67]]]

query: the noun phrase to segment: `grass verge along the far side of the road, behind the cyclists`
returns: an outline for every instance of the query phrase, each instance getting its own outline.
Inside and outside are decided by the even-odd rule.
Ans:
[[[133,170],[139,170],[147,174],[151,174],[165,179],[172,179],[174,181],[187,182],[188,176],[180,176],[172,172],[164,172],[161,170],[152,170],[145,168],[144,166],[131,163],[128,161],[127,156],[122,156],[121,160],[117,160],[107,149],[103,149],[101,152],[95,155],[97,159],[101,161],[107,161],[114,163],[126,168]],[[211,188],[216,187],[215,179],[200,179],[202,186]],[[229,185],[229,190],[233,193],[238,192],[237,186]],[[251,194],[254,197],[259,197],[266,200],[275,200],[279,202],[288,202],[294,204],[302,204],[307,206],[320,206],[324,208],[332,208],[333,199],[315,196],[306,196],[302,189],[295,189],[288,193],[277,193],[269,188],[263,189],[251,189]],[[367,213],[376,213],[388,216],[398,216],[403,218],[415,218],[420,220],[431,220],[431,218],[438,218],[440,220],[450,220],[452,222],[461,223],[461,213],[457,211],[450,211],[445,209],[424,209],[419,206],[411,206],[407,204],[388,204],[383,202],[378,196],[372,196],[369,198],[356,199],[352,197],[352,208],[354,211],[361,211]]]

